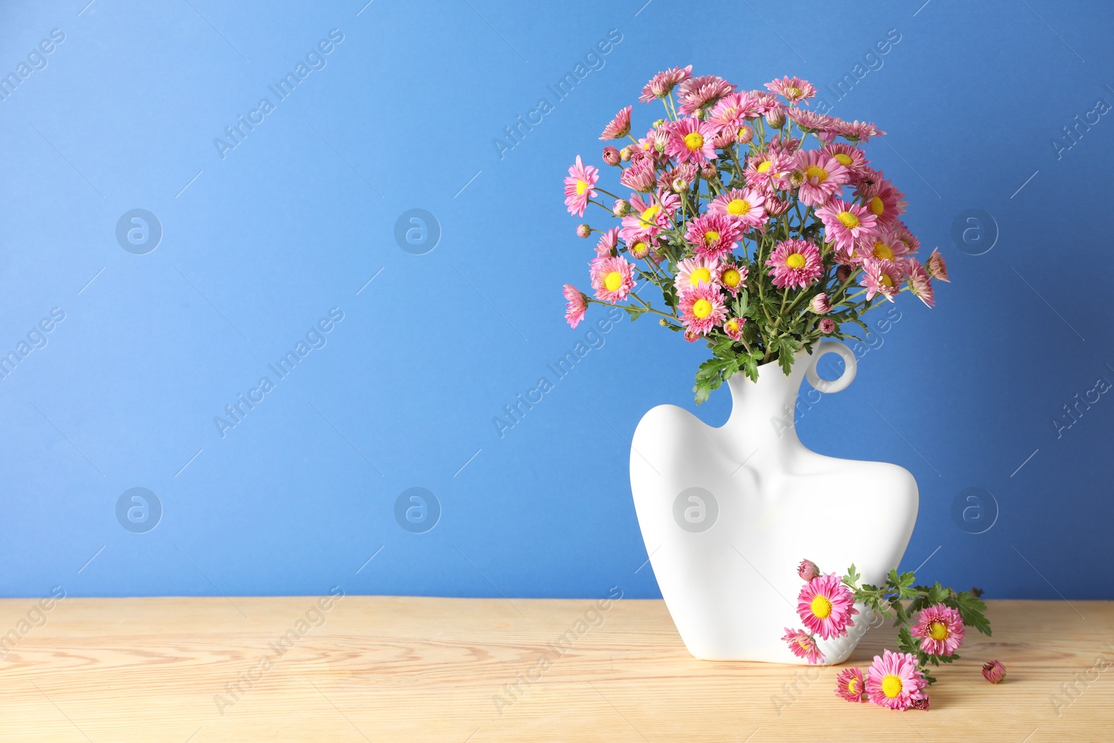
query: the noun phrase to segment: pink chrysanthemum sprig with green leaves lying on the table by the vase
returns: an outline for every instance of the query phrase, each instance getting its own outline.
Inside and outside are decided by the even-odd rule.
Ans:
[[[956,592],[935,583],[915,585],[912,573],[890,570],[881,586],[860,583],[861,576],[852,564],[843,576],[821,574],[811,560],[802,560],[798,575],[805,581],[797,599],[797,613],[804,629],[785,627],[782,637],[789,649],[809,663],[820,663],[824,654],[817,637],[846,637],[859,614],[856,604],[867,607],[869,616],[893,619],[898,628],[898,652],[882,651],[876,655],[867,673],[846,668],[837,676],[836,693],[849,702],[862,702],[891,710],[927,710],[927,688],[936,683],[928,666],[954,663],[964,642],[965,627],[990,634],[986,604],[981,590]],[[988,668],[988,666],[990,668]],[[994,661],[986,664],[983,675],[997,683],[1005,667]],[[997,681],[993,676],[997,677]]]

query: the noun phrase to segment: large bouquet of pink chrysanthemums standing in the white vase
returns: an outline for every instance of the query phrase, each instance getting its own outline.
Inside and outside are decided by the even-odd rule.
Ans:
[[[704,340],[712,359],[696,373],[696,402],[742,371],[758,379],[776,361],[788,374],[793,354],[825,336],[854,338],[864,312],[909,291],[935,304],[932,280],[948,281],[932,251],[901,222],[905,194],[870,167],[860,148],[885,134],[804,108],[815,88],[799,78],[739,91],[721,77],[693,77],[692,66],[658,72],[639,96],[665,107],[642,138],[623,108],[600,139],[619,168],[627,198],[605,190],[599,169],[577,156],[565,178],[565,204],[583,216],[589,204],[620,226],[587,224],[600,235],[589,268],[592,295],[564,287],[566,319],[576,327],[592,303],[617,304],[632,320],[658,322]],[[597,198],[613,199],[608,206]],[[662,303],[638,291],[653,284]]]

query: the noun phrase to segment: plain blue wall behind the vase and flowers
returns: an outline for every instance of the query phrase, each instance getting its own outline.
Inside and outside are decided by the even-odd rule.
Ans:
[[[0,594],[657,596],[628,439],[655,404],[694,409],[702,350],[620,321],[502,438],[492,423],[587,330],[563,319],[592,243],[561,178],[578,153],[598,164],[622,106],[636,131],[659,116],[636,102],[659,69],[800,75],[834,102],[827,86],[897,29],[832,113],[889,133],[868,155],[952,283],[931,311],[901,297],[801,438],[913,472],[905,568],[930,557],[926,578],[991,598],[1114,598],[1114,400],[1054,423],[1114,382],[1114,120],[1063,131],[1114,102],[1107,3],[313,4],[0,10],[3,75],[65,33],[0,101],[0,351],[66,313],[0,381]],[[331,29],[325,67],[276,101],[267,86]],[[603,67],[555,101],[546,86],[610,29]],[[263,97],[275,109],[222,158],[214,138]],[[554,110],[500,156],[541,97]],[[134,208],[163,228],[145,255],[116,238]],[[395,241],[411,208],[440,225],[423,255]],[[989,219],[957,243],[966,209]],[[332,307],[326,344],[276,381],[267,364]],[[275,389],[222,438],[214,417],[263,375]],[[698,412],[729,408],[722,391]],[[117,520],[135,487],[162,504],[146,534]],[[424,534],[394,516],[413,487],[440,505]],[[968,488],[993,496],[975,517],[996,504],[981,534],[952,517]]]

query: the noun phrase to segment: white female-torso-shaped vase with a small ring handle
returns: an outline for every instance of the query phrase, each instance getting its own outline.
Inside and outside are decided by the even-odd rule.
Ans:
[[[846,362],[833,381],[815,374],[828,352]],[[676,405],[658,405],[638,423],[631,447],[638,525],[662,597],[695,657],[804,663],[781,639],[785,627],[803,626],[798,564],[807,558],[842,575],[853,563],[864,583],[877,585],[901,559],[917,520],[912,475],[818,454],[793,427],[805,374],[827,393],[850,384],[854,372],[850,349],[825,341],[811,356],[800,351],[789,375],[769,363],[756,382],[732,377],[731,417],[720,428]],[[824,663],[854,649],[869,622],[858,609],[848,637],[820,641]]]

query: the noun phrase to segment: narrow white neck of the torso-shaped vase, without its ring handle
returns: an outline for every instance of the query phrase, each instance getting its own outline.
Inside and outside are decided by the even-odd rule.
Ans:
[[[798,442],[793,426],[797,393],[809,365],[809,354],[798,352],[793,370],[786,375],[776,362],[759,366],[758,381],[737,373],[727,380],[731,388],[731,417],[723,430],[744,448],[753,450],[768,442]],[[747,456],[747,451],[743,456]]]

